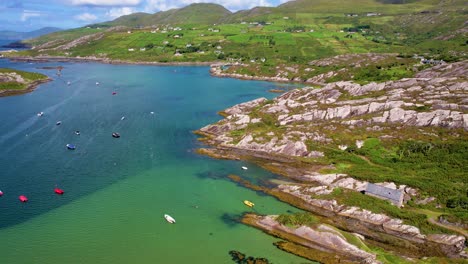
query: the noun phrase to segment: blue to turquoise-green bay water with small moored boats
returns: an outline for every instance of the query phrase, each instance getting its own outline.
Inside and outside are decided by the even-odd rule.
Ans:
[[[57,65],[65,67],[61,76],[36,68]],[[194,153],[201,145],[193,130],[233,104],[273,97],[275,84],[212,78],[207,67],[0,60],[6,66],[54,81],[0,98],[2,263],[233,263],[233,249],[273,263],[309,263],[236,221],[252,210],[244,199],[261,214],[297,211],[226,177],[265,183],[274,175]],[[53,193],[56,185],[63,196]],[[165,213],[177,223],[168,224]]]

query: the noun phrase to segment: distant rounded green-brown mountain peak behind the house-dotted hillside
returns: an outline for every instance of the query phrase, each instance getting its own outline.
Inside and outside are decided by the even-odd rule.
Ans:
[[[162,24],[215,24],[231,15],[231,11],[218,4],[197,3],[155,14],[135,13],[113,21],[90,25],[91,27],[145,27]]]

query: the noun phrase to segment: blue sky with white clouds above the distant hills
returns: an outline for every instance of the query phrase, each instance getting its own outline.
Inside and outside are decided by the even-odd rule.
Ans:
[[[0,0],[0,30],[77,28],[135,12],[156,13],[192,3],[221,4],[231,11],[277,6],[289,0]]]

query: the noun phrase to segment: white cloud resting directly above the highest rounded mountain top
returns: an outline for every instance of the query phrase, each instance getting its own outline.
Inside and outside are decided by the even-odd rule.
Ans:
[[[287,0],[281,0],[287,2]],[[146,0],[145,12],[165,11],[171,8],[184,7],[193,3],[215,3],[220,4],[231,11],[250,9],[256,6],[272,6],[269,0]]]

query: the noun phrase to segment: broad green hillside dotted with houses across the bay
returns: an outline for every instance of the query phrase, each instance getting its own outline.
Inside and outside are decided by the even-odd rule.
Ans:
[[[467,56],[464,5],[463,0],[297,0],[231,13],[217,4],[192,4],[49,34],[19,54],[156,62],[261,59],[263,65],[248,71],[254,75],[274,64],[349,53],[453,61]]]

